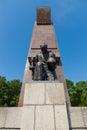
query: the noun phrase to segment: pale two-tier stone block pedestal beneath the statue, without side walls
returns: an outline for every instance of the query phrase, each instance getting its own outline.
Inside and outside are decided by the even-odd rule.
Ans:
[[[63,84],[26,84],[22,114],[21,130],[69,130]]]

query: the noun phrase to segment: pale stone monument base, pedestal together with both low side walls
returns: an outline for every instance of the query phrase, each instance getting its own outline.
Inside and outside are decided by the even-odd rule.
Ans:
[[[87,107],[68,107],[63,83],[30,82],[23,107],[0,108],[0,130],[87,130]]]

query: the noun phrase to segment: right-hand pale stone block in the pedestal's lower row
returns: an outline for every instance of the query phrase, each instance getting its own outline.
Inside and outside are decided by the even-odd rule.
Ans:
[[[69,130],[67,110],[65,105],[55,106],[56,130]]]

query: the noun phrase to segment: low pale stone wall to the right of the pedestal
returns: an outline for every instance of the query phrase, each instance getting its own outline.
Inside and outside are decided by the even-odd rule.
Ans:
[[[71,128],[87,129],[87,107],[70,107],[69,114]]]

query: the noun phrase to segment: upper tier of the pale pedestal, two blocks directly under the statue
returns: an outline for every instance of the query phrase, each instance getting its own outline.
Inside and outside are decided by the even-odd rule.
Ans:
[[[63,83],[32,82],[25,85],[24,105],[65,104]]]

